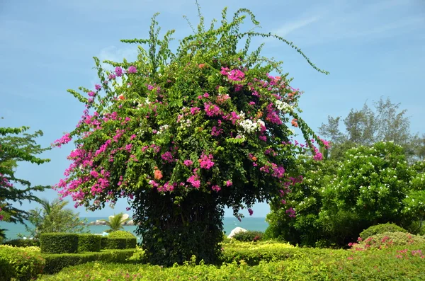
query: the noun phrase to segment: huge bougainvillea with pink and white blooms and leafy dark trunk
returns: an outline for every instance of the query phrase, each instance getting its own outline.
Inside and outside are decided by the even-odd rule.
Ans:
[[[276,35],[239,31],[246,15],[259,25],[245,9],[232,21],[225,9],[221,25],[210,28],[199,14],[197,30],[175,52],[174,30],[159,40],[154,16],[149,39],[122,40],[147,45],[137,61],[106,61],[115,68],[108,71],[95,58],[99,84],[80,88],[84,94],[69,90],[86,110],[77,129],[55,142],[77,146],[57,188],[89,210],[128,198],[150,263],[193,254],[217,261],[225,206],[240,216],[287,192],[296,152],[290,127],[300,128],[307,147],[318,139],[297,115],[300,91],[281,63],[261,57],[262,45],[249,47],[251,38],[273,37],[302,52]]]

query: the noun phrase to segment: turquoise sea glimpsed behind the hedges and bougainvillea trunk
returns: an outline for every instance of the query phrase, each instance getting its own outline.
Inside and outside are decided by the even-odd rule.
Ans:
[[[81,217],[81,219],[85,219]],[[96,219],[108,219],[107,217],[87,217],[88,222],[96,222]],[[268,223],[266,222],[266,218],[264,217],[244,217],[242,222],[239,222],[234,217],[225,217],[223,219],[224,229],[226,234],[230,234],[230,231],[235,227],[239,226],[243,229],[247,230],[257,230],[257,231],[265,231],[267,229]],[[108,229],[108,226],[87,226],[93,234],[101,234],[103,231]],[[6,237],[8,240],[18,238],[18,234],[23,234],[23,236],[28,236],[26,232],[25,226],[23,224],[11,224],[7,222],[0,221],[0,229],[7,229]],[[124,226],[126,231],[131,231],[134,233],[136,226]]]

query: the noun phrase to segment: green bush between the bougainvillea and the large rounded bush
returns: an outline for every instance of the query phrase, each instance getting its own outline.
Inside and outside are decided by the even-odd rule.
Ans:
[[[290,193],[283,201],[285,209],[280,207],[282,198],[272,202],[271,212],[266,217],[266,238],[301,246],[316,246],[323,239],[331,241],[319,219],[319,212],[322,209],[322,187],[335,175],[337,164],[329,160],[315,161],[311,156],[298,157],[296,164],[297,174],[302,177],[292,178]],[[288,210],[295,210],[295,214]]]

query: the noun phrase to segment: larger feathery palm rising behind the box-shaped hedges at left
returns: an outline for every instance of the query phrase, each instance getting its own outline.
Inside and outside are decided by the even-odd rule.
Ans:
[[[88,232],[86,229],[87,219],[79,219],[79,213],[64,209],[67,201],[46,199],[40,200],[42,209],[35,208],[29,211],[28,221],[33,226],[26,226],[30,236],[39,238],[40,234],[53,232],[81,233]]]

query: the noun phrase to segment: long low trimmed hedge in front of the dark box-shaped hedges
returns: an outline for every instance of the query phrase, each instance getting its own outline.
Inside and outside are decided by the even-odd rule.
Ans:
[[[46,274],[58,273],[63,268],[72,265],[81,265],[91,261],[103,261],[106,263],[125,263],[130,258],[134,250],[112,250],[93,253],[62,253],[62,254],[43,254],[45,258]]]

